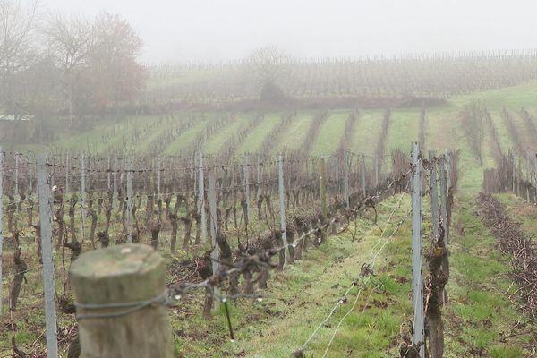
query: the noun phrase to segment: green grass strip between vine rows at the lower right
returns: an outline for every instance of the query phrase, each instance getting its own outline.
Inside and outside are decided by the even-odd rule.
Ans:
[[[444,313],[446,350],[450,356],[468,356],[478,349],[490,356],[524,357],[522,348],[532,337],[524,332],[528,319],[508,303],[513,292],[508,258],[495,249],[496,239],[476,217],[473,196],[456,203],[450,245],[449,304]],[[510,332],[516,333],[507,337]],[[494,352],[494,353],[492,353]],[[501,355],[508,354],[508,355]]]

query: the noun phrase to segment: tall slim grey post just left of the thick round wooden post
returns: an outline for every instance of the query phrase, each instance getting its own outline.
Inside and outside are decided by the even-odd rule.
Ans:
[[[45,296],[47,357],[57,358],[58,342],[55,311],[54,260],[52,257],[52,192],[47,182],[47,158],[38,155],[39,221],[41,223],[41,259]]]

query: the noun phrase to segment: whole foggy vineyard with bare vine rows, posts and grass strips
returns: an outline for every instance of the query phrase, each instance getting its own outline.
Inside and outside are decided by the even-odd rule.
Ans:
[[[243,64],[155,66],[4,141],[0,357],[533,356],[534,62],[293,62],[300,106],[246,109]]]

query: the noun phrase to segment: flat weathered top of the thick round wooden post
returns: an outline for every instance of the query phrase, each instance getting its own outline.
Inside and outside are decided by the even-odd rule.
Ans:
[[[160,254],[148,245],[125,243],[82,253],[72,262],[71,275],[99,279],[143,274],[157,267],[161,260]]]

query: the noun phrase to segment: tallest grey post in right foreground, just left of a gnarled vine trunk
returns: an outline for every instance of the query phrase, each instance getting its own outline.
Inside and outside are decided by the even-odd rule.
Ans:
[[[412,286],[413,286],[413,345],[422,344],[425,339],[423,317],[422,286],[422,160],[419,158],[420,147],[417,142],[412,145]],[[421,345],[420,357],[425,358]]]

